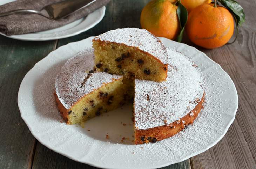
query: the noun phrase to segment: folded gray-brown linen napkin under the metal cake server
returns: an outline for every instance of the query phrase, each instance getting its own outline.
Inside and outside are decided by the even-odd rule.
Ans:
[[[41,10],[44,6],[63,0],[18,0],[0,6],[0,13],[15,9]],[[0,17],[0,32],[6,35],[26,34],[58,28],[87,16],[94,10],[106,5],[110,0],[98,0],[74,14],[57,21],[37,14],[13,14]]]

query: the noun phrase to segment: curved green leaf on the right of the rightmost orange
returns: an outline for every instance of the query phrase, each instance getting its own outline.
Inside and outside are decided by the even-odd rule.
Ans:
[[[245,22],[244,10],[234,0],[218,0],[224,7],[226,7],[236,18],[236,26],[241,26]]]

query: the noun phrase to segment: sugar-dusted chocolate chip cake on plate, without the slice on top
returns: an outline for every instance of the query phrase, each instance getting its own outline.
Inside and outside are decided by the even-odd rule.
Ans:
[[[56,77],[61,116],[67,124],[80,124],[134,98],[135,144],[177,134],[193,123],[203,108],[203,76],[184,54],[170,48],[167,51],[167,78],[160,83],[97,72],[93,49],[78,53]]]

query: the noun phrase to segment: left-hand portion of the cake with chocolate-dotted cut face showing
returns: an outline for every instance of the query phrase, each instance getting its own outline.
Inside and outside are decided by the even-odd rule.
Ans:
[[[55,81],[55,97],[67,124],[79,124],[118,108],[134,96],[133,81],[97,72],[93,49],[69,59]]]

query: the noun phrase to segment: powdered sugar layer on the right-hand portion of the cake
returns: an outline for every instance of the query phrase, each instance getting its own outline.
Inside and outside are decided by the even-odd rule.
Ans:
[[[168,77],[161,83],[135,79],[135,126],[170,124],[195,108],[203,96],[203,76],[182,53],[167,48]]]

